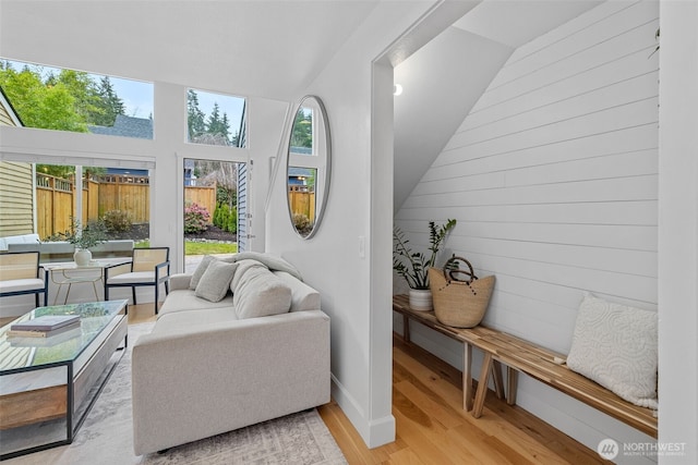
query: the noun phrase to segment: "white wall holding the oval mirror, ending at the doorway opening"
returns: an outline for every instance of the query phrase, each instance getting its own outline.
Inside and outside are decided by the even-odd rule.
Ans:
[[[372,279],[390,274],[393,71],[372,61],[433,2],[388,3],[374,9],[305,91],[323,99],[333,137],[332,185],[317,233],[305,241],[291,228],[285,162],[266,216],[267,250],[321,292],[332,319],[333,397],[372,448],[395,439],[390,289]],[[384,137],[375,142],[373,133]],[[376,209],[383,222],[374,221]],[[372,274],[375,269],[383,271]]]

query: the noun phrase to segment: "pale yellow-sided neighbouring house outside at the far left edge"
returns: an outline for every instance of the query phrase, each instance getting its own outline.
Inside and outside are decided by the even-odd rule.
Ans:
[[[2,88],[0,88],[0,125],[24,125]],[[2,205],[0,237],[35,232],[34,164],[0,161],[0,205]]]

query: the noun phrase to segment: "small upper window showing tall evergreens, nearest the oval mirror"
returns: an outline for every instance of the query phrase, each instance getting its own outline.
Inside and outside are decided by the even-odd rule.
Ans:
[[[245,146],[245,100],[242,97],[186,91],[186,140],[192,144]]]

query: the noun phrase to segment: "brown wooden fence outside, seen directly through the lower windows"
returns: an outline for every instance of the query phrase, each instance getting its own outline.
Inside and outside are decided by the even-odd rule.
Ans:
[[[151,220],[151,185],[147,176],[100,175],[83,181],[82,223],[103,218],[107,211],[128,211],[133,223]],[[43,240],[70,228],[77,212],[75,184],[47,174],[36,174],[37,232]],[[216,187],[184,187],[185,204],[206,208],[213,221]]]

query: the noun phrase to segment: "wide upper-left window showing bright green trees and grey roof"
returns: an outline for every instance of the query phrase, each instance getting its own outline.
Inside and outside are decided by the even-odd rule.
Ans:
[[[22,125],[153,138],[153,84],[0,58],[0,87]]]

